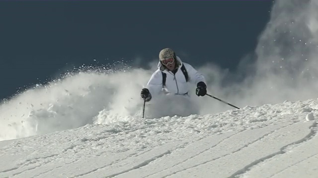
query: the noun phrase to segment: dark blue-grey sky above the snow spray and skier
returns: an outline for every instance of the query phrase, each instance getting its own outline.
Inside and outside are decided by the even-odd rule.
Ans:
[[[272,3],[0,1],[0,99],[93,59],[150,61],[165,47],[194,66],[234,70],[254,50]]]

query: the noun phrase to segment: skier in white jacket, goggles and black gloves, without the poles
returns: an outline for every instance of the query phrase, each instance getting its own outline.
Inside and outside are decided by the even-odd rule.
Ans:
[[[197,85],[196,95],[204,96],[207,93],[203,75],[190,64],[182,62],[171,48],[164,48],[159,52],[158,69],[142,89],[141,97],[146,102],[161,92],[189,97],[188,82]]]

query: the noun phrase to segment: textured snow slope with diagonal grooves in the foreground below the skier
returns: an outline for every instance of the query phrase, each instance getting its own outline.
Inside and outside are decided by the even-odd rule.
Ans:
[[[317,178],[317,109],[286,101],[2,141],[0,177]]]

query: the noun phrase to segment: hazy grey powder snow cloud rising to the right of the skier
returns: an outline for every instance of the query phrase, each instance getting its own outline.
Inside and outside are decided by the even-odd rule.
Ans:
[[[199,69],[211,81],[211,94],[239,107],[316,98],[317,8],[318,0],[277,0],[254,55],[242,59],[238,73],[230,74],[215,65]],[[229,78],[237,80],[224,81]],[[204,106],[210,108],[205,112],[230,108],[217,100]]]

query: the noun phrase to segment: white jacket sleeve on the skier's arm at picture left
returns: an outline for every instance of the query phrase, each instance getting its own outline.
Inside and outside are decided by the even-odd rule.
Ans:
[[[162,74],[159,70],[154,72],[154,74],[149,79],[147,86],[149,92],[152,96],[158,95],[162,90]]]

